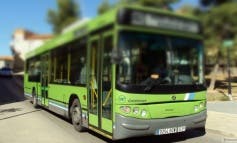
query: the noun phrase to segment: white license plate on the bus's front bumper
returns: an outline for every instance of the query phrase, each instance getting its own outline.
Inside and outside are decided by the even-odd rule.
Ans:
[[[180,127],[172,127],[172,128],[164,128],[164,129],[157,129],[156,135],[166,135],[166,134],[174,134],[186,131],[186,126]]]

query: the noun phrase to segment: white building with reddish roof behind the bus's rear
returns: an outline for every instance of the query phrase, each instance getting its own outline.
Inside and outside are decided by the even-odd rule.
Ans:
[[[36,34],[25,29],[15,30],[12,35],[12,41],[10,42],[14,57],[14,72],[23,71],[26,53],[41,46],[52,37],[50,34]]]

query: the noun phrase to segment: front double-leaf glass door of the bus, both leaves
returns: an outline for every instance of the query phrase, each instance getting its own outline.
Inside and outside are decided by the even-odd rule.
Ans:
[[[89,42],[89,124],[112,133],[112,32]]]

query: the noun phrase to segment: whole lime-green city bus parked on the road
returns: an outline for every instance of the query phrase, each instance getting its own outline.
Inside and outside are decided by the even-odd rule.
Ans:
[[[197,19],[122,5],[27,54],[24,94],[113,140],[205,131]]]

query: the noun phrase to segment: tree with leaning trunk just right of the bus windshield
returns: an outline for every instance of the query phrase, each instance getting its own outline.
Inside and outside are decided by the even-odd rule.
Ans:
[[[225,24],[230,24],[230,32],[235,33],[235,35],[237,34],[237,19],[233,18],[234,15],[237,15],[236,7],[236,2],[221,3],[216,1],[213,7],[201,15],[204,27],[206,56],[207,59],[211,59],[209,62],[214,64],[209,85],[210,90],[213,90],[215,87],[216,73],[219,65],[226,61],[226,50],[222,48]],[[232,48],[231,53],[232,61],[236,61],[237,50]]]

